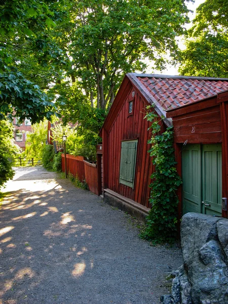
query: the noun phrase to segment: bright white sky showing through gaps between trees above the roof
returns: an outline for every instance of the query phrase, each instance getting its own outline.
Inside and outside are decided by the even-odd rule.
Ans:
[[[192,3],[192,2],[186,3],[187,8],[188,8],[189,10],[193,11],[193,13],[189,13],[189,14],[188,14],[188,17],[189,17],[189,19],[190,19],[191,21],[194,19],[195,15],[196,15],[196,9],[197,9],[197,7],[198,7],[201,3],[203,3],[203,2],[205,2],[205,0],[195,0],[195,3]],[[191,27],[191,23],[186,24],[186,28],[190,28],[190,27]],[[184,45],[183,45],[183,43],[182,43],[181,41],[179,42],[179,47],[180,47],[181,49],[184,48]],[[146,72],[147,72],[147,73],[151,73],[151,68],[148,67]],[[170,66],[167,66],[167,69],[164,70],[163,72],[161,72],[161,71],[159,71],[159,70],[154,70],[154,73],[163,74],[163,75],[178,75],[178,67],[175,67],[175,66],[171,66],[171,65],[170,65]]]

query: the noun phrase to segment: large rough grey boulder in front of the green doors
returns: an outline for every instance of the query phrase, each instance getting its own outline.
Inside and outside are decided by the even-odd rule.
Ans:
[[[163,304],[228,303],[228,219],[187,213],[181,221],[183,267]]]

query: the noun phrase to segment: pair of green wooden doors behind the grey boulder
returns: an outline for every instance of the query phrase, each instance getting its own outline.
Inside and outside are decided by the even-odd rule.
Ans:
[[[183,214],[221,215],[221,144],[187,144],[182,151]]]

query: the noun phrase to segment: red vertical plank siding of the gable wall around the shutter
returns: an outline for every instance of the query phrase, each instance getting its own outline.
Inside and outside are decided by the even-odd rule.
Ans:
[[[118,194],[132,199],[139,204],[149,207],[150,175],[153,171],[151,158],[148,154],[149,145],[149,123],[144,119],[145,105],[141,95],[135,89],[133,101],[133,115],[129,115],[129,100],[132,100],[133,89],[129,92],[125,102],[120,109],[116,120],[108,133],[108,185],[107,187]],[[134,189],[119,183],[121,141],[138,139],[137,157],[135,168]],[[104,139],[103,139],[104,140]],[[105,153],[103,154],[105,156]]]

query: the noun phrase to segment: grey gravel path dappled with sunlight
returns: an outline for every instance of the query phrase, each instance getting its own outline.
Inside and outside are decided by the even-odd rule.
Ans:
[[[158,304],[178,248],[42,167],[17,168],[0,207],[0,303]]]

